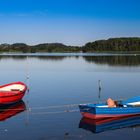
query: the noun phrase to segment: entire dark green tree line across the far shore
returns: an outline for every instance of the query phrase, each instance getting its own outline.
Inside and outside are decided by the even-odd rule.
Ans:
[[[67,46],[62,43],[44,43],[27,45],[24,43],[1,44],[0,52],[138,52],[140,51],[140,38],[110,38],[88,42],[84,46]]]

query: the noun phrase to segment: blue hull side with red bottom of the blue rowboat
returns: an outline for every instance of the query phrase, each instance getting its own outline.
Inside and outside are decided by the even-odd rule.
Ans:
[[[140,114],[140,107],[101,108],[91,105],[79,105],[83,117],[89,119],[102,119],[109,117],[126,117]]]

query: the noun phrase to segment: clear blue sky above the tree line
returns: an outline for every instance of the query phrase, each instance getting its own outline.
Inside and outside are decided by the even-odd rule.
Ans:
[[[139,6],[140,0],[0,0],[0,43],[140,37]]]

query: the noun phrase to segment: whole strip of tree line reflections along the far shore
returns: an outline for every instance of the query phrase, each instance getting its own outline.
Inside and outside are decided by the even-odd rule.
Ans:
[[[40,60],[54,60],[54,61],[62,61],[66,58],[73,57],[83,58],[88,63],[94,64],[107,64],[110,66],[140,66],[140,55],[94,55],[94,56],[67,56],[67,55],[28,55],[28,58],[37,58]],[[16,60],[26,60],[27,55],[14,54],[14,55],[1,55],[0,60],[2,59],[16,59]]]

